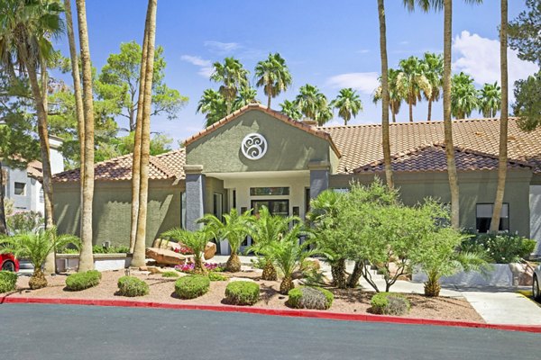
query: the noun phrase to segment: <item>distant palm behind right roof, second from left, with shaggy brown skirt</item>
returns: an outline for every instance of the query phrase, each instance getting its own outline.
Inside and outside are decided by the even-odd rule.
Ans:
[[[409,105],[409,121],[413,122],[413,106],[421,100],[421,93],[431,94],[432,86],[425,76],[421,62],[417,57],[409,57],[399,62],[400,73],[397,78],[400,92],[405,94]]]

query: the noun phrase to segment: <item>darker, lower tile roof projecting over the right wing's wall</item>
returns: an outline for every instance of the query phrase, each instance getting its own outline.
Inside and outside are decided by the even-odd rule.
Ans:
[[[454,147],[454,160],[458,171],[497,170],[498,157],[468,148]],[[443,143],[430,144],[392,156],[392,170],[396,172],[447,171],[447,158]],[[357,167],[354,173],[371,174],[385,171],[383,159]],[[509,161],[508,168],[531,168],[522,161]]]

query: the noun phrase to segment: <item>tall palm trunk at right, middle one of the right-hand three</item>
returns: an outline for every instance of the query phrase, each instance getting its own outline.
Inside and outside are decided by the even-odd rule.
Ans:
[[[444,3],[444,134],[447,174],[451,191],[451,225],[460,227],[459,189],[454,162],[453,122],[451,121],[451,45],[453,37],[453,1]]]

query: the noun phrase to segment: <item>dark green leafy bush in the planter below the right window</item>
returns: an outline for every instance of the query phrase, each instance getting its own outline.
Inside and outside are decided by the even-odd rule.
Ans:
[[[463,240],[463,251],[484,253],[496,264],[520,261],[534,251],[536,240],[509,234],[479,234]]]

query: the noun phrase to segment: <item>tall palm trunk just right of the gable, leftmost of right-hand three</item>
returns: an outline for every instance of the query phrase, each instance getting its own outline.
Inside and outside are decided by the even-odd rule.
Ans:
[[[381,136],[383,142],[383,162],[385,164],[385,181],[390,188],[394,187],[392,167],[390,165],[390,129],[389,129],[389,65],[387,63],[387,30],[385,24],[384,0],[378,0],[380,18],[380,54],[381,54]],[[394,112],[393,112],[394,121]]]

